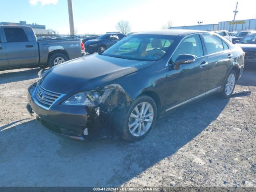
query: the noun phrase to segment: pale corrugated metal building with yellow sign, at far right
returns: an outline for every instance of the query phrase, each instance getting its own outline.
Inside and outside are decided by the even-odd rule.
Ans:
[[[218,30],[241,31],[241,30],[256,30],[256,19],[222,21],[219,22]]]

